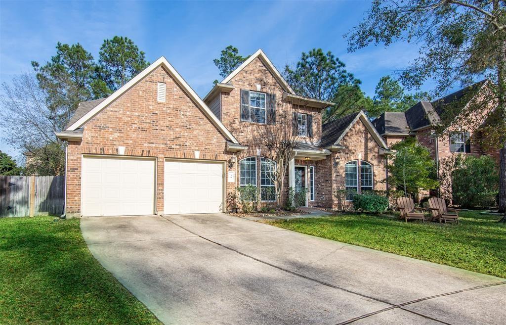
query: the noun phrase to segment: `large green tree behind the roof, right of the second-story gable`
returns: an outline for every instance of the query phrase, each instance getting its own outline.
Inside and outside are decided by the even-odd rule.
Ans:
[[[330,51],[324,53],[322,49],[312,49],[308,53],[303,52],[293,68],[286,65],[283,76],[297,94],[336,103],[324,112],[325,123],[360,110],[359,102],[366,104],[360,80],[345,67],[343,61]]]

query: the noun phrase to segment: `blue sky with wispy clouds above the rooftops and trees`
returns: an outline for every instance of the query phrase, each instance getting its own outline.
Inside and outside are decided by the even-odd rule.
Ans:
[[[228,45],[240,54],[259,48],[282,68],[313,48],[331,51],[362,80],[369,96],[379,78],[408,65],[413,45],[370,46],[347,53],[343,35],[358,24],[369,1],[5,1],[0,2],[0,81],[31,71],[32,60],[45,63],[57,42],[80,43],[98,57],[105,38],[134,40],[146,58],[160,56],[203,97],[219,79],[213,59]],[[427,86],[425,90],[431,90]],[[0,142],[0,150],[18,155]]]

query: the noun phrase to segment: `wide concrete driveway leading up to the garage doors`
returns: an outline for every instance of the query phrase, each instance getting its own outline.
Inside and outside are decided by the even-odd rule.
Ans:
[[[165,324],[505,324],[505,279],[225,214],[82,218]]]

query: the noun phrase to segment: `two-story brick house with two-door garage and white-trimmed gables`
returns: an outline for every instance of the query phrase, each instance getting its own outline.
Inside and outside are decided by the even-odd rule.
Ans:
[[[307,207],[338,207],[339,189],[384,189],[387,144],[364,112],[322,126],[330,105],[294,93],[262,50],[203,99],[161,57],[109,97],[80,103],[57,133],[68,142],[66,214],[226,212],[227,195],[247,184],[272,204],[272,162],[252,130],[287,111],[300,144],[286,183],[308,189]]]

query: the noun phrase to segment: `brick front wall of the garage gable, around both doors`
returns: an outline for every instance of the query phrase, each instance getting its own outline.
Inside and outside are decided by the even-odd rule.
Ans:
[[[165,103],[156,101],[157,82],[166,83]],[[233,153],[225,150],[225,143],[220,131],[160,67],[89,121],[82,142],[69,142],[67,213],[80,214],[82,154],[117,155],[118,146],[124,146],[125,155],[156,157],[156,210],[161,213],[165,158],[195,158],[198,150],[200,159],[229,161]]]

